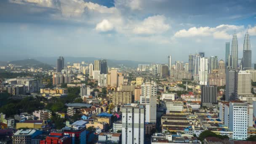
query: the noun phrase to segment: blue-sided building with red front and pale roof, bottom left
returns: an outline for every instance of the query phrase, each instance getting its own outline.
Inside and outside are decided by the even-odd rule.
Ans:
[[[70,144],[86,144],[86,121],[78,120],[71,125],[66,125],[62,128],[64,135],[71,137],[72,143]]]

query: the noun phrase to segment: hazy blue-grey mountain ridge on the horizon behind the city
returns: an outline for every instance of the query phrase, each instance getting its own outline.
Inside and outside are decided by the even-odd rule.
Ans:
[[[32,59],[23,59],[16,61],[9,61],[9,64],[16,64],[22,67],[43,67],[45,69],[53,69],[56,67],[56,61],[58,57],[38,57]],[[65,65],[67,62],[70,64],[73,63],[81,63],[81,61],[85,61],[85,63],[94,63],[94,60],[99,60],[100,58],[94,57],[64,57]],[[138,64],[151,64],[149,62],[141,62],[141,61],[129,61],[129,60],[114,60],[107,59],[108,67],[119,67],[123,65],[125,67],[138,67]]]

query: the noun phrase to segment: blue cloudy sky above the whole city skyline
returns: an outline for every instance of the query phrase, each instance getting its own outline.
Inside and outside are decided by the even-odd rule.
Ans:
[[[0,60],[74,56],[167,63],[246,30],[256,63],[256,0],[0,0]]]

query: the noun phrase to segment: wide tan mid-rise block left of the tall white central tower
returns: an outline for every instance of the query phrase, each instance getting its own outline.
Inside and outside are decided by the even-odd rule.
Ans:
[[[113,100],[114,105],[123,105],[131,104],[132,92],[131,91],[113,91]]]

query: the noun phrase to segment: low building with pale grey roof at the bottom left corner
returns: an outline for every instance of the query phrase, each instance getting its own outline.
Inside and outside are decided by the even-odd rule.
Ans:
[[[32,139],[42,133],[42,130],[18,130],[13,134],[13,144],[32,144]]]

